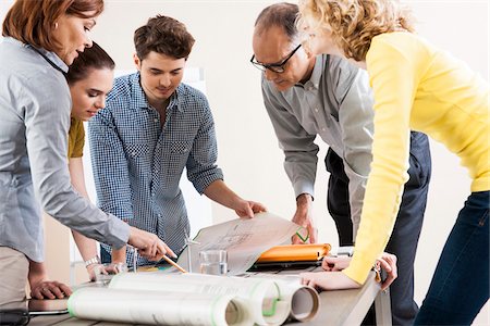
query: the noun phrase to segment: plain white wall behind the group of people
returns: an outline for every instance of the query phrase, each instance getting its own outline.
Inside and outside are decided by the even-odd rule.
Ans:
[[[0,0],[0,16],[11,0]],[[188,65],[204,68],[215,114],[219,164],[225,181],[242,197],[264,202],[285,218],[294,213],[294,195],[282,168],[283,155],[265,111],[260,73],[248,60],[257,14],[279,1],[260,0],[106,0],[93,38],[114,59],[119,70],[133,68],[133,32],[156,14],[185,23],[196,39]],[[406,1],[418,18],[418,32],[452,52],[489,80],[489,1]],[[320,145],[321,146],[321,145]],[[431,142],[433,175],[416,260],[416,301],[421,302],[449,231],[469,193],[469,178],[457,158]],[[320,164],[326,153],[321,146]],[[327,173],[319,165],[315,218],[320,240],[336,244],[334,224],[326,208]],[[234,218],[212,206],[215,222]],[[471,276],[468,275],[468,281]],[[488,304],[475,325],[490,325]]]

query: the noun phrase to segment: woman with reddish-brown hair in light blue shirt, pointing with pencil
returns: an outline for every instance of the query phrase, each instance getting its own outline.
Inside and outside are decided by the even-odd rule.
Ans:
[[[91,46],[87,34],[102,10],[102,0],[17,0],[7,13],[0,43],[0,304],[23,300],[27,279],[36,287],[36,268],[28,265],[44,260],[38,201],[87,237],[115,248],[130,242],[154,260],[173,253],[157,236],[98,210],[70,183],[64,75]]]

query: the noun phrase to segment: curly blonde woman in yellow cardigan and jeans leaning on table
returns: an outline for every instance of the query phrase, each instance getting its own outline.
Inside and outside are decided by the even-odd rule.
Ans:
[[[395,1],[303,0],[299,7],[313,52],[343,55],[367,70],[376,111],[354,256],[342,272],[304,274],[304,283],[328,289],[364,284],[395,222],[409,130],[419,130],[457,154],[473,183],[415,324],[470,324],[489,298],[488,82],[414,34]]]

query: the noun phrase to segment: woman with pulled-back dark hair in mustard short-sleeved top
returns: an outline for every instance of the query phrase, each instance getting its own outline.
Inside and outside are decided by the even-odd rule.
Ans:
[[[112,88],[114,61],[109,54],[93,42],[90,48],[73,61],[66,74],[66,80],[72,96],[72,116],[69,130],[69,170],[73,188],[84,198],[88,198],[85,187],[83,151],[85,129],[83,122],[88,121],[105,106],[106,96]],[[103,268],[97,254],[97,242],[82,234],[72,230],[76,246],[85,261],[85,267],[90,280],[95,279],[95,267]],[[44,263],[29,262],[30,296],[36,299],[54,299],[60,292],[70,291],[63,284],[50,281]],[[109,269],[109,268],[108,268]],[[106,272],[119,272],[115,268]],[[46,289],[46,290],[42,290]]]

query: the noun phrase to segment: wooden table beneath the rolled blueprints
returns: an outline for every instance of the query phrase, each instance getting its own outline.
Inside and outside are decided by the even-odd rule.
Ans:
[[[367,311],[375,302],[377,325],[390,326],[391,308],[389,291],[381,291],[380,285],[376,283],[375,275],[368,277],[366,284],[354,290],[323,291],[320,293],[320,311],[317,316],[307,323],[289,323],[296,326],[353,326],[363,322]],[[29,325],[57,325],[57,326],[115,326],[121,323],[108,323],[86,321],[70,317],[69,314],[36,316],[30,319]],[[130,324],[127,324],[130,325]]]

